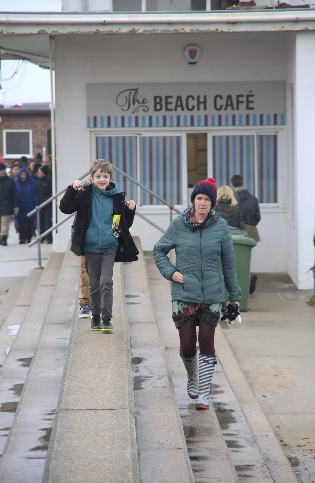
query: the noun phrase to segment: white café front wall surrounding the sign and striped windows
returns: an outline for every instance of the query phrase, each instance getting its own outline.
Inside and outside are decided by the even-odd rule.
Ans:
[[[288,79],[290,38],[291,34],[286,32],[57,37],[57,189],[89,168],[86,84],[283,81]],[[201,48],[202,57],[196,66],[188,65],[183,57],[188,43],[197,43]],[[286,141],[285,138],[284,144]],[[286,163],[286,159],[282,162]],[[286,170],[282,170],[285,177]],[[285,193],[286,183],[283,184]],[[166,227],[169,215],[158,221],[159,217],[160,214],[155,221]],[[253,250],[252,270],[287,270],[286,220],[286,199],[280,209],[262,210],[258,226],[262,241]],[[58,230],[58,250],[66,247],[70,225]],[[140,235],[146,250],[152,249],[160,236],[139,218],[132,232]]]

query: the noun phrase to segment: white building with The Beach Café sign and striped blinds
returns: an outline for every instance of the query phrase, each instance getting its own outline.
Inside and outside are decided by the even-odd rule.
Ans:
[[[2,58],[55,71],[55,190],[106,158],[183,210],[200,179],[229,185],[242,174],[261,211],[252,270],[312,286],[314,10],[15,13],[0,24]],[[115,181],[166,229],[168,206]],[[71,224],[59,227],[57,251]],[[132,233],[144,250],[161,236],[139,216]]]

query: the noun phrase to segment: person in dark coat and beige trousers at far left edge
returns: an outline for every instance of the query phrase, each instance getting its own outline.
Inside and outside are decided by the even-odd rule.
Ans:
[[[19,208],[14,180],[7,175],[6,166],[0,162],[0,245],[6,246],[10,218]]]

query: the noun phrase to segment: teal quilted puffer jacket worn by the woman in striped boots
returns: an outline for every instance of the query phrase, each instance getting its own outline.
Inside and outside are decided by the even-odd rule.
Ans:
[[[170,223],[153,249],[157,268],[164,278],[172,280],[175,271],[183,274],[183,284],[172,282],[172,300],[209,304],[224,302],[224,286],[230,301],[241,300],[229,225],[212,211],[203,226],[191,231],[186,212]],[[167,256],[173,248],[176,267]]]

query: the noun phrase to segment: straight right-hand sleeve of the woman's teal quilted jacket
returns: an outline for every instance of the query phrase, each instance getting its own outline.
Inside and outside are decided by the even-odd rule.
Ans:
[[[224,283],[229,292],[229,300],[236,302],[242,299],[241,288],[235,273],[235,254],[233,241],[228,225],[224,229],[224,237],[221,248],[221,261],[224,275]]]

